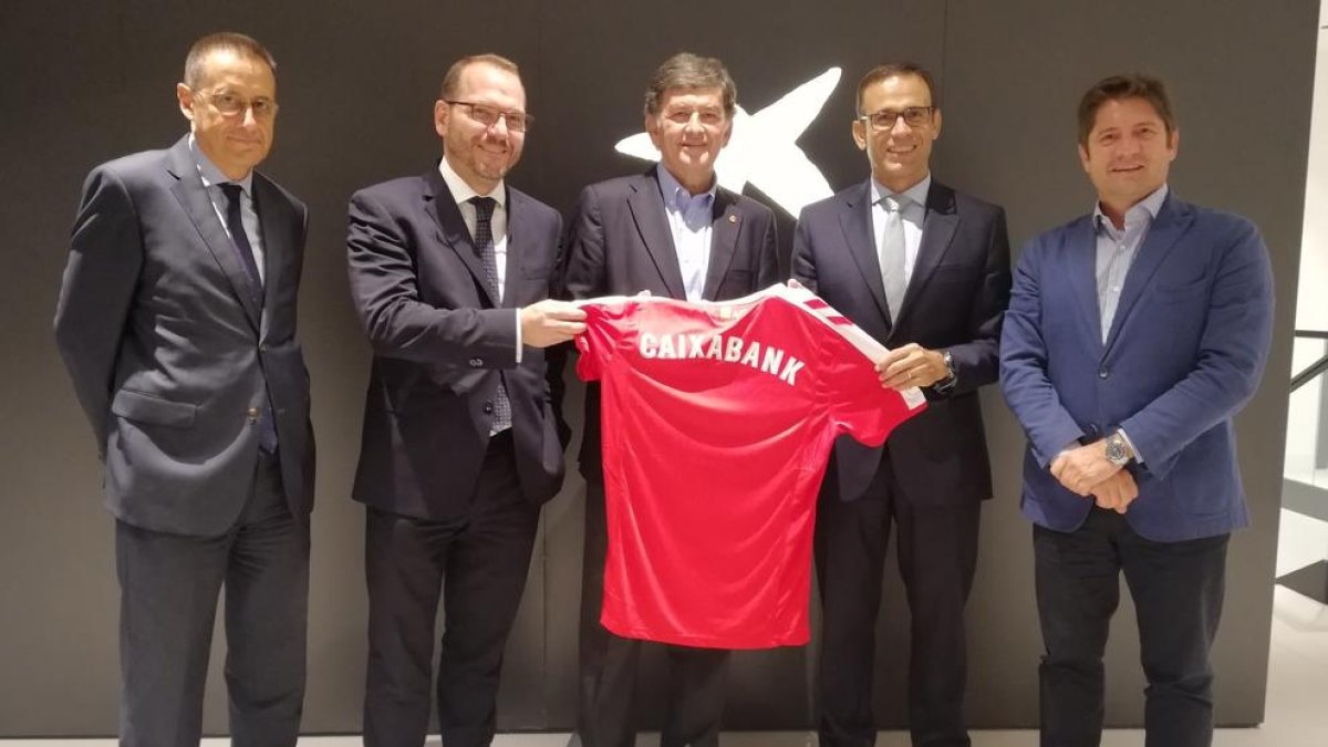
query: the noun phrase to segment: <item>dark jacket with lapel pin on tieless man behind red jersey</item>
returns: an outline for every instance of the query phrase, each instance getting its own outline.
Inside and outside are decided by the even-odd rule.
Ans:
[[[568,298],[641,291],[687,298],[656,169],[582,190],[562,268],[563,294]],[[778,283],[774,213],[720,187],[712,215],[710,265],[703,298],[740,298]],[[587,387],[584,427],[580,471],[587,479],[600,480],[598,384]]]

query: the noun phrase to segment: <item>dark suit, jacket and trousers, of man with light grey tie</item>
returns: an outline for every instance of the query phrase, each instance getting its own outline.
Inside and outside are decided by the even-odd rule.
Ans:
[[[979,508],[992,494],[977,388],[993,383],[1009,299],[1009,239],[1000,207],[931,183],[916,265],[890,318],[871,229],[871,182],[807,206],[793,276],[895,348],[950,351],[946,392],[880,448],[835,444],[817,521],[825,605],[821,743],[871,744],[874,631],[890,524],[912,613],[910,724],[914,744],[968,744],[963,724],[963,609],[977,554]]]

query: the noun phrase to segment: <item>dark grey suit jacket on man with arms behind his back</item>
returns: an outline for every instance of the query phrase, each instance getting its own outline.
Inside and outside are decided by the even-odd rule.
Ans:
[[[117,518],[224,533],[258,459],[263,389],[276,415],[291,513],[313,504],[308,372],[295,338],[307,211],[254,174],[264,247],[255,302],[189,149],[137,153],[84,185],[56,342],[105,460]]]

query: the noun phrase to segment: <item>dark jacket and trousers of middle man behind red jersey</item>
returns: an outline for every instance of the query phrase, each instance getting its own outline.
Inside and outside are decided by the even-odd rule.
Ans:
[[[703,296],[738,298],[778,282],[774,214],[718,189],[712,210],[710,257]],[[687,292],[656,169],[582,191],[568,230],[563,288],[571,298]],[[599,387],[586,392],[580,469],[586,477],[586,558],[582,573],[580,706],[576,731],[586,747],[635,743],[632,694],[640,641],[599,623],[604,590],[604,476],[600,463]],[[713,746],[724,707],[728,651],[669,646],[669,703],[664,747]]]

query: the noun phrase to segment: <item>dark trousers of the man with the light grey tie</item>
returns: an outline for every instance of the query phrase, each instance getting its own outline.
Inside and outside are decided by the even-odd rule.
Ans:
[[[867,494],[841,501],[827,480],[817,506],[823,609],[817,673],[822,747],[876,743],[871,691],[876,614],[891,522],[911,614],[908,728],[915,747],[968,747],[964,605],[977,565],[979,504],[918,508],[899,497],[883,459]]]

